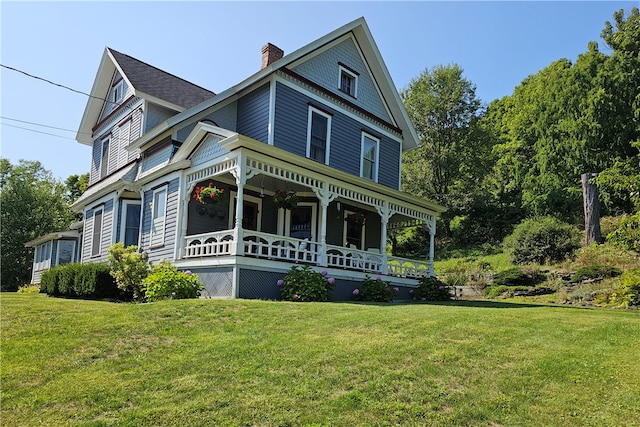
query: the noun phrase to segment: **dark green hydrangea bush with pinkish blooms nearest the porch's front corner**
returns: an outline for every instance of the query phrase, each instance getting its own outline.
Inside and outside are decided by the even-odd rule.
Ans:
[[[328,301],[335,279],[326,278],[326,271],[318,273],[311,267],[293,266],[283,279],[278,280],[280,295],[287,301]]]

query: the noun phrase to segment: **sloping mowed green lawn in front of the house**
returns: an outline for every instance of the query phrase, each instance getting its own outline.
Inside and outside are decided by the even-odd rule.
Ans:
[[[640,425],[640,314],[3,294],[3,426]]]

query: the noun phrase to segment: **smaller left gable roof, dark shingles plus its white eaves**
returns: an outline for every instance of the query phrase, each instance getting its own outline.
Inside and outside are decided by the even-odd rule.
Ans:
[[[87,101],[76,135],[78,142],[87,145],[93,143],[90,136],[92,128],[99,119],[116,71],[133,88],[135,96],[176,112],[184,111],[215,96],[214,92],[107,47],[102,55],[91,97]]]

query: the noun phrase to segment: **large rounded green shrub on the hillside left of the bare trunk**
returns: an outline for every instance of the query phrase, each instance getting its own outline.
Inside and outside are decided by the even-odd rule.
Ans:
[[[553,217],[527,219],[504,239],[514,264],[562,261],[580,247],[581,233]]]

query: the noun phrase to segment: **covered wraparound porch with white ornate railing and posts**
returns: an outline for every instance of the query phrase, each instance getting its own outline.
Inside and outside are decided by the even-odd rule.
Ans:
[[[441,206],[213,126],[199,131],[206,135],[183,179],[181,264],[243,257],[399,278],[433,275]],[[206,161],[199,160],[203,152]],[[216,203],[194,199],[196,188],[210,185],[224,191]],[[275,202],[285,193],[295,195],[294,206]],[[429,259],[388,255],[387,234],[415,225],[429,231]]]

